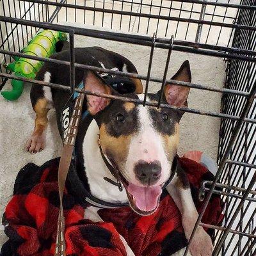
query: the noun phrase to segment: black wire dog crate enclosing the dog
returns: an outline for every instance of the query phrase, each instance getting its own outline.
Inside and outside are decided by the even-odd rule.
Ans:
[[[220,118],[218,171],[212,182],[202,183],[205,205],[196,226],[211,227],[215,232],[213,255],[256,255],[256,1],[255,0],[1,0],[1,86],[8,79],[31,81],[4,72],[3,62],[11,56],[26,56],[20,52],[38,29],[53,29],[69,34],[70,62],[26,56],[33,60],[70,65],[70,88],[59,84],[33,81],[70,92],[74,88],[75,67],[88,68],[109,74],[138,77],[146,81],[145,96],[151,82],[166,81],[197,90],[221,93],[221,111],[202,111],[161,104],[153,106],[182,109],[188,113]],[[70,15],[72,13],[72,15]],[[61,22],[72,22],[65,26]],[[98,28],[81,28],[77,22]],[[159,29],[164,28],[164,29]],[[132,33],[131,33],[132,32]],[[153,33],[156,33],[153,35]],[[79,65],[74,60],[74,35],[104,38],[117,42],[150,47],[147,75],[130,74],[106,68]],[[157,35],[157,36],[156,36]],[[151,76],[151,64],[156,49],[166,49],[164,76]],[[223,58],[226,67],[224,88],[205,84],[166,79],[172,51],[191,52]],[[109,97],[103,93],[90,93]],[[112,96],[113,97],[113,96]],[[121,100],[149,104],[145,100],[119,97]],[[221,227],[201,222],[212,193],[220,194],[225,202],[225,219]],[[192,237],[195,233],[192,234]],[[188,248],[185,252],[188,253]]]

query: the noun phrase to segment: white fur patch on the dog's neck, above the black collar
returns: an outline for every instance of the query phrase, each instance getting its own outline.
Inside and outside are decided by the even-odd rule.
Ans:
[[[108,202],[127,202],[125,189],[120,192],[118,187],[104,180],[104,177],[115,180],[100,154],[98,143],[99,127],[93,119],[86,131],[83,141],[83,157],[86,177],[93,196]]]

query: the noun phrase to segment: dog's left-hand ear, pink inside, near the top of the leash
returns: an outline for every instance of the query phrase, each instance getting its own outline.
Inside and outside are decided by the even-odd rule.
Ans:
[[[84,89],[90,92],[111,94],[111,88],[104,83],[103,79],[91,70],[84,72]],[[87,108],[92,115],[96,115],[99,111],[109,105],[111,99],[97,97],[86,94]]]

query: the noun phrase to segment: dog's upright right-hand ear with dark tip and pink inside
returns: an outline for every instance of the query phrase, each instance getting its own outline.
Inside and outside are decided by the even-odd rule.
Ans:
[[[191,83],[191,71],[188,60],[184,61],[178,72],[171,79]],[[177,107],[188,107],[187,99],[189,90],[189,87],[175,84],[165,84],[164,96],[170,105]]]

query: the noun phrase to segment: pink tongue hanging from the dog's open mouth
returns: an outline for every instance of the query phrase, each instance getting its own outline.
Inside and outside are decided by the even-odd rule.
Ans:
[[[127,191],[134,196],[138,209],[147,212],[156,209],[159,195],[162,193],[161,186],[140,187],[131,183]]]

